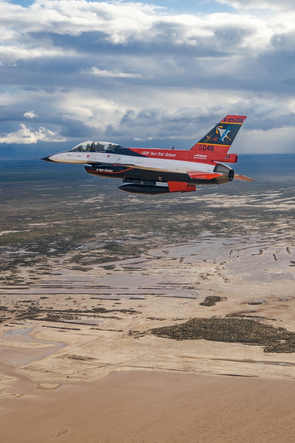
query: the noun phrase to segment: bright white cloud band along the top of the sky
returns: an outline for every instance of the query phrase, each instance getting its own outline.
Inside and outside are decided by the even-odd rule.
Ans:
[[[222,0],[223,1],[223,0]],[[224,0],[234,2],[234,0]],[[237,0],[237,5],[240,0]],[[248,0],[250,5],[250,0]],[[261,19],[249,14],[169,15],[154,5],[85,0],[37,0],[27,8],[2,3],[0,60],[74,57],[76,48],[56,45],[50,34],[77,37],[97,32],[96,47],[144,44],[225,53],[265,50],[272,35],[294,29],[292,17]],[[41,37],[41,38],[40,38]],[[224,45],[230,39],[230,45]]]

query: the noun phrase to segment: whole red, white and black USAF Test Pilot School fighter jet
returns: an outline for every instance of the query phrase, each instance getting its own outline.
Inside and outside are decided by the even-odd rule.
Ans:
[[[122,179],[118,189],[135,194],[191,192],[200,185],[220,185],[233,179],[253,182],[234,174],[224,163],[237,163],[229,154],[246,116],[227,115],[191,149],[130,148],[117,143],[85,141],[69,151],[42,158],[53,163],[80,163],[96,177]]]

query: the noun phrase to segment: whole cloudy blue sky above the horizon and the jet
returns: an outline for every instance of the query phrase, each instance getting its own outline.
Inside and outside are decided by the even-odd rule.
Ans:
[[[99,140],[295,152],[293,0],[0,1],[0,158]]]

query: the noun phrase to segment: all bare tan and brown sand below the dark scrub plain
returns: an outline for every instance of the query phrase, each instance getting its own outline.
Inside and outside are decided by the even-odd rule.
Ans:
[[[12,311],[32,300],[51,312],[85,311],[59,321],[41,311],[25,325],[5,314],[0,442],[293,442],[295,354],[148,331],[241,314],[295,331],[294,250],[274,234],[201,236],[114,269],[80,276],[58,263],[30,288],[3,286],[1,304]],[[208,295],[222,301],[200,305]],[[248,304],[255,300],[262,304]],[[110,311],[92,315],[93,307]]]

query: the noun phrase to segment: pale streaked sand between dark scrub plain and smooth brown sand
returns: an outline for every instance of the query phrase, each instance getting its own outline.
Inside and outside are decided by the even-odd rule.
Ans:
[[[42,342],[43,347],[52,346],[52,343],[65,343],[66,346],[42,359],[34,360],[34,354],[31,363],[20,365],[18,372],[26,373],[38,382],[57,383],[93,381],[110,371],[138,369],[293,380],[294,354],[265,354],[261,346],[234,343],[178,342],[150,334],[138,336],[138,332],[185,322],[193,317],[235,314],[257,315],[264,317],[264,321],[272,326],[295,331],[295,299],[292,298],[295,283],[294,280],[280,280],[289,274],[293,279],[294,251],[289,239],[275,234],[235,238],[216,238],[206,234],[192,241],[150,251],[142,259],[130,259],[128,263],[123,260],[121,264],[110,262],[116,263],[114,269],[95,266],[87,272],[80,272],[83,275],[79,276],[77,271],[66,266],[62,271],[59,262],[51,274],[42,276],[31,288],[3,286],[0,289],[1,304],[9,309],[14,309],[14,306],[23,309],[31,303],[24,302],[24,299],[31,299],[35,300],[36,306],[50,307],[53,311],[69,308],[88,310],[87,314],[76,318],[63,318],[63,322],[34,320],[32,323],[36,327],[29,335],[38,343]],[[279,271],[275,273],[276,280],[242,280],[243,276],[253,276],[252,268],[247,266],[255,265],[260,274],[272,275],[278,264],[284,265],[285,269],[283,272],[281,268],[275,269]],[[230,271],[231,266],[234,270]],[[23,273],[29,271],[27,268],[19,269]],[[64,275],[57,276],[54,272],[64,272]],[[252,274],[245,275],[248,272]],[[56,284],[57,277],[60,277],[59,288],[44,287],[43,281],[48,285]],[[72,277],[83,277],[88,281],[73,282]],[[87,283],[89,286],[68,288],[70,283]],[[104,287],[99,288],[99,285]],[[44,293],[47,299],[41,298]],[[208,295],[218,295],[223,301],[211,307],[201,306],[199,303]],[[118,302],[115,299],[119,299]],[[263,300],[263,303],[248,304],[255,300]],[[96,306],[113,312],[91,315],[89,311]],[[134,308],[134,314],[115,311],[130,308]],[[100,323],[101,320],[103,323]],[[76,325],[78,330],[73,329],[73,323],[66,323],[75,321],[80,322]],[[88,322],[92,325],[81,324]],[[20,327],[13,324],[5,326],[9,324],[0,325],[2,337],[9,330]],[[4,338],[7,337],[6,334]],[[25,351],[31,346],[33,352],[40,347],[32,340],[27,343],[0,342],[2,346],[11,346],[15,350]],[[45,354],[45,350],[42,352]],[[38,356],[42,356],[41,351]]]

